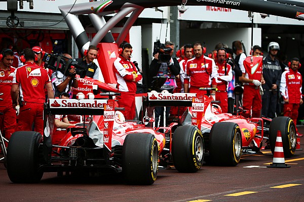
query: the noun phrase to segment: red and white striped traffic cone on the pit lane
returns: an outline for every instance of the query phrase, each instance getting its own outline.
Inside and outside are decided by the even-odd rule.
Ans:
[[[273,163],[267,168],[290,168],[285,164],[281,131],[278,130]]]

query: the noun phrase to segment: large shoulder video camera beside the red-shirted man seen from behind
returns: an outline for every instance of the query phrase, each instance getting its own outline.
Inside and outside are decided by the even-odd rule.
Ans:
[[[76,73],[80,76],[80,78],[84,78],[87,73],[87,69],[85,67],[80,66],[76,61],[63,56],[62,54],[46,53],[42,61],[45,62],[46,68],[53,71],[59,71],[65,76],[68,76],[71,68],[75,68]]]

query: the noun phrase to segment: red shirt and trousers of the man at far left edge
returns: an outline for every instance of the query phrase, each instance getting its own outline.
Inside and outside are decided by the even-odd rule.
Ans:
[[[16,111],[12,106],[11,88],[14,77],[14,67],[10,67],[7,71],[0,69],[0,128],[3,128],[4,135],[10,139],[11,135],[15,132],[16,127]]]

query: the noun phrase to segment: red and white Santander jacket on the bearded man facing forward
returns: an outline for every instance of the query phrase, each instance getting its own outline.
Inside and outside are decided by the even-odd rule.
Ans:
[[[188,60],[185,72],[189,78],[184,78],[184,83],[189,84],[189,92],[206,93],[199,90],[202,87],[211,87],[212,79],[217,77],[217,70],[213,59],[208,57],[193,58]]]

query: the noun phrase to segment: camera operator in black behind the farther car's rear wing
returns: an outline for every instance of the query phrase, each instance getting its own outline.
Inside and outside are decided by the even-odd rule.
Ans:
[[[171,41],[166,41],[164,45],[165,53],[169,55],[169,60],[164,62],[161,61],[161,50],[154,55],[154,59],[150,64],[149,68],[149,76],[150,76],[150,83],[153,81],[153,77],[155,76],[168,76],[174,77],[179,76],[180,66],[176,58],[172,58],[173,51],[174,51],[174,43]],[[163,50],[164,50],[163,49]],[[161,87],[162,90],[168,90],[169,92],[173,92],[174,88],[176,87],[176,83],[174,79],[167,79],[164,85]],[[166,108],[166,118],[169,117],[170,108]],[[158,121],[160,116],[160,126],[163,126],[164,123],[164,107],[156,107],[155,108],[155,123],[156,127],[158,127]]]

